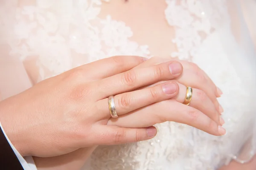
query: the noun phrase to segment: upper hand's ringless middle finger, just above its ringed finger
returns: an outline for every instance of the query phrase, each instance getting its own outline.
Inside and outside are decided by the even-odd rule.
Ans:
[[[149,85],[161,80],[169,80],[180,76],[182,65],[171,61],[146,68],[137,68],[116,74],[112,77],[95,82],[95,87],[103,99],[111,95],[121,94],[134,90],[144,85]]]

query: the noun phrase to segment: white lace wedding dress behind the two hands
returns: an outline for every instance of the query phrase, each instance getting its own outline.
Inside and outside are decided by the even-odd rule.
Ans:
[[[84,170],[216,170],[256,151],[256,55],[242,8],[239,0],[0,0],[0,50],[23,62],[32,83],[114,55],[197,63],[224,93],[225,136],[165,122],[149,141],[98,147]]]

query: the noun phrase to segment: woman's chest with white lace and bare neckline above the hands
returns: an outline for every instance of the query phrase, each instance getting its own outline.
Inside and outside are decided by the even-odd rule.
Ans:
[[[200,0],[18,2],[12,51],[33,79],[113,55],[190,59],[214,30]]]

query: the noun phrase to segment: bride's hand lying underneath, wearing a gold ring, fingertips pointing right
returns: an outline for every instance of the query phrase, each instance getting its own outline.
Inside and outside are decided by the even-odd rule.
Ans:
[[[168,59],[154,57],[137,67],[148,67],[166,61]],[[149,127],[157,123],[173,121],[191,125],[216,136],[224,135],[226,131],[221,126],[224,120],[220,116],[223,110],[216,99],[220,94],[215,84],[195,64],[186,61],[179,62],[183,65],[183,74],[176,78],[180,89],[177,96],[119,116],[118,119],[110,119],[108,125]],[[186,96],[186,86],[191,86],[193,89],[189,106],[182,104]],[[131,101],[132,96],[126,95],[125,100]],[[129,109],[129,105],[122,105],[122,109]],[[117,112],[120,111],[117,110]]]

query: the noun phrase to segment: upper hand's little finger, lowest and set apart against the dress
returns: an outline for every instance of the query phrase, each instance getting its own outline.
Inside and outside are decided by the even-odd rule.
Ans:
[[[157,129],[153,126],[145,128],[124,128],[100,125],[93,130],[93,145],[114,145],[148,140],[156,136]]]

